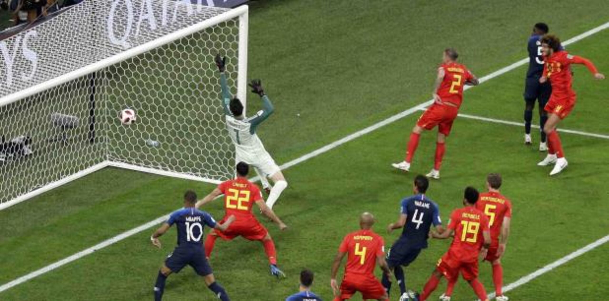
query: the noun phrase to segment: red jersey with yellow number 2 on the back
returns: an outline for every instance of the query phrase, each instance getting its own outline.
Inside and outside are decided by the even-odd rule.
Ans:
[[[456,106],[461,106],[463,102],[463,86],[465,82],[474,78],[474,75],[465,67],[457,63],[442,64],[440,69],[444,69],[444,79],[438,88],[438,96],[442,102],[449,102]]]

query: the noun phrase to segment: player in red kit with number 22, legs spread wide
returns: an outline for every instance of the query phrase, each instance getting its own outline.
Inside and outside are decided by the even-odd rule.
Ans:
[[[247,180],[247,174],[250,171],[249,165],[244,162],[237,164],[237,178],[234,180],[222,182],[213,192],[205,196],[201,201],[197,202],[196,207],[199,208],[204,204],[213,201],[217,196],[224,195],[224,207],[226,214],[222,219],[224,223],[228,216],[234,215],[236,220],[233,224],[224,231],[216,229],[211,230],[205,239],[205,256],[209,258],[211,251],[216,244],[216,238],[220,237],[224,240],[233,240],[233,238],[241,236],[247,240],[261,241],[264,246],[264,252],[269,257],[270,273],[276,277],[286,277],[286,275],[277,268],[277,255],[275,251],[275,243],[270,237],[269,231],[256,220],[256,216],[252,213],[254,204],[258,205],[262,214],[270,218],[279,225],[279,229],[285,230],[286,224],[275,215],[270,209],[256,184]]]

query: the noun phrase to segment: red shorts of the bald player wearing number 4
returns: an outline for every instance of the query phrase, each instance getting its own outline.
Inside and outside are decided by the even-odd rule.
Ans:
[[[334,301],[351,299],[356,292],[361,292],[364,300],[378,300],[385,296],[385,288],[374,275],[346,274],[340,283],[340,296]]]

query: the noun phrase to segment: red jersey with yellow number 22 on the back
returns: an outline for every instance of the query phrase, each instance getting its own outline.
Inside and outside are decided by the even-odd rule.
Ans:
[[[252,213],[254,203],[262,199],[260,189],[256,184],[245,178],[222,182],[218,189],[224,193],[224,208],[226,216],[234,215],[237,220],[255,218]]]

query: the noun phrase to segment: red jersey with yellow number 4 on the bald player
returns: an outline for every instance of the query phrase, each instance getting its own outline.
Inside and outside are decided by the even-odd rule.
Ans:
[[[345,236],[339,252],[347,253],[345,275],[374,275],[376,257],[385,255],[385,241],[372,230],[359,230]]]

